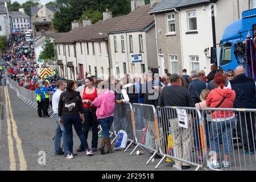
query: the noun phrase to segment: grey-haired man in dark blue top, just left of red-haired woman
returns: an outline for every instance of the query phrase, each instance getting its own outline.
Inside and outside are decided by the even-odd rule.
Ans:
[[[195,103],[200,102],[200,94],[203,89],[207,88],[207,85],[204,81],[199,80],[198,72],[192,71],[190,73],[191,82],[188,84],[188,91],[191,94]]]

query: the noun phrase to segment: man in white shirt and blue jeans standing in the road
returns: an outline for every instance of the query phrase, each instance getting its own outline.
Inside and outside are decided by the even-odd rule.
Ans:
[[[56,131],[55,131],[55,139],[54,139],[54,147],[55,147],[55,155],[67,155],[68,154],[68,145],[67,145],[67,134],[65,133],[65,129],[63,125],[59,125],[59,117],[58,117],[58,106],[60,100],[60,94],[64,92],[66,89],[66,84],[63,80],[58,80],[56,82],[57,90],[52,96],[52,110],[54,113],[55,121],[56,121]],[[61,135],[63,137],[63,148],[64,152],[60,147]]]

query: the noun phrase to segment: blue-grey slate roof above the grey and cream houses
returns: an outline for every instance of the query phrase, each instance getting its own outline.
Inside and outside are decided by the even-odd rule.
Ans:
[[[218,0],[163,0],[151,9],[150,14],[160,13],[174,8],[180,9],[181,7],[200,5],[201,3],[215,3],[217,1]]]

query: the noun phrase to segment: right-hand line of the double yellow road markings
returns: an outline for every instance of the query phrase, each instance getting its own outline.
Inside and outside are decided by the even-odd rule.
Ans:
[[[7,88],[7,86],[6,86],[6,88]],[[9,108],[10,108],[10,118],[11,118],[11,122],[13,124],[13,135],[16,140],[16,148],[18,150],[18,156],[19,156],[19,169],[20,169],[20,171],[26,171],[27,170],[27,162],[24,157],[24,153],[23,153],[23,149],[22,149],[22,140],[19,138],[18,130],[17,130],[18,127],[14,120],[13,110],[11,109],[11,102],[10,102],[8,88],[6,90],[7,90],[8,104],[9,104]]]

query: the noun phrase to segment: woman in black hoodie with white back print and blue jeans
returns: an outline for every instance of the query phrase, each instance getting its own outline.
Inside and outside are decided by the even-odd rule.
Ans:
[[[82,107],[82,98],[80,93],[75,91],[75,83],[73,80],[67,81],[67,90],[60,94],[58,107],[59,123],[63,124],[67,134],[68,155],[67,159],[73,158],[73,131],[75,127],[76,133],[87,155],[93,155],[92,150],[88,147],[84,133],[82,133],[82,123],[84,123],[84,109]]]

